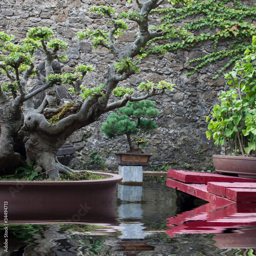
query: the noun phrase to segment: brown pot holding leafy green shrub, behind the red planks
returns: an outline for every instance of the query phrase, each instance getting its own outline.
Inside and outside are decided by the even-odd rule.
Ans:
[[[218,173],[237,174],[243,178],[256,178],[256,157],[213,155]]]

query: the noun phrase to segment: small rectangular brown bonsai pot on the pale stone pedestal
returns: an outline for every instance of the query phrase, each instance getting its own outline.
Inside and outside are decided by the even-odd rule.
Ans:
[[[117,163],[120,165],[148,165],[151,154],[138,153],[114,153],[117,157]]]

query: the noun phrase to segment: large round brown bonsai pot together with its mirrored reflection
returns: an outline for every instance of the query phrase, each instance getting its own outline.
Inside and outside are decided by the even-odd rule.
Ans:
[[[115,217],[112,201],[120,175],[87,181],[0,181],[0,214],[8,222],[105,221]],[[3,218],[0,219],[3,222]]]

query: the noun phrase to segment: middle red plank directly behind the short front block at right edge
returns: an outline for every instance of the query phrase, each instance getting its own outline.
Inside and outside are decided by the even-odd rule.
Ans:
[[[207,191],[221,196],[221,197],[226,197],[226,188],[227,187],[236,187],[236,188],[256,188],[256,183],[251,183],[251,182],[234,182],[234,183],[229,183],[229,182],[208,182],[207,183]]]

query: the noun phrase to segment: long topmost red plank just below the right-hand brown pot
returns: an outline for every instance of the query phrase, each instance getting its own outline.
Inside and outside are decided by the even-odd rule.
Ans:
[[[256,179],[233,177],[215,173],[189,172],[187,170],[168,170],[167,177],[185,183],[207,184],[207,182],[255,182]]]

